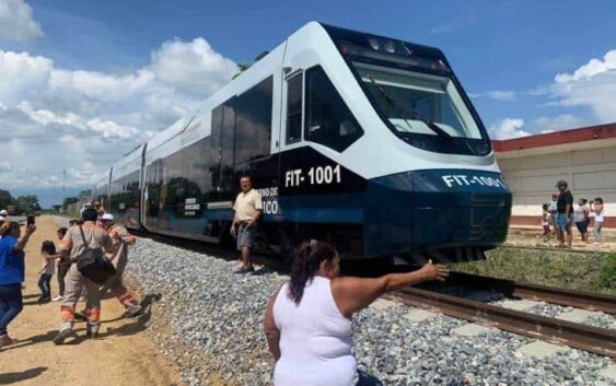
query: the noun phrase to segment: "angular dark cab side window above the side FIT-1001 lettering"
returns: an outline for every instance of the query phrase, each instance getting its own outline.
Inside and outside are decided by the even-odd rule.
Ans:
[[[345,101],[319,66],[306,71],[304,139],[344,151],[363,134]]]

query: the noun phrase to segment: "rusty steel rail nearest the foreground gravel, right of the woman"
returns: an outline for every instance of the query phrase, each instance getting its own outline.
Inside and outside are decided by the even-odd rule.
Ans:
[[[616,360],[616,330],[549,318],[416,288],[405,288],[396,294],[396,299],[407,305],[428,309],[438,308],[449,316]]]

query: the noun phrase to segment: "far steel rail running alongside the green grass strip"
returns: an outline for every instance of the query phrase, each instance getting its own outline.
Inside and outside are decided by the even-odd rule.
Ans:
[[[508,296],[544,301],[616,315],[616,296],[614,295],[515,282],[465,272],[451,272],[448,282],[462,283],[472,288],[489,288]]]

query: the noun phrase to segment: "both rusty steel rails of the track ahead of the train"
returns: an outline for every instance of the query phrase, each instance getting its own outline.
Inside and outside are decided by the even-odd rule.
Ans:
[[[515,283],[509,280],[460,272],[452,272],[451,279],[452,282],[457,283],[475,280],[475,288],[491,284],[492,288],[504,290],[505,294],[515,297],[543,300],[550,303],[603,311],[612,315],[616,313],[616,296]],[[439,309],[449,316],[548,342],[566,344],[616,360],[616,330],[613,329],[510,309],[421,288],[403,289],[394,297],[415,307]]]

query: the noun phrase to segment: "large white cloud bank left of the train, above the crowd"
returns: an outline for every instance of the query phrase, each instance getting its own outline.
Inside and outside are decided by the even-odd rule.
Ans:
[[[204,38],[165,42],[129,73],[68,70],[0,50],[0,140],[12,160],[0,167],[0,187],[58,187],[62,171],[67,187],[85,187],[236,72]]]

